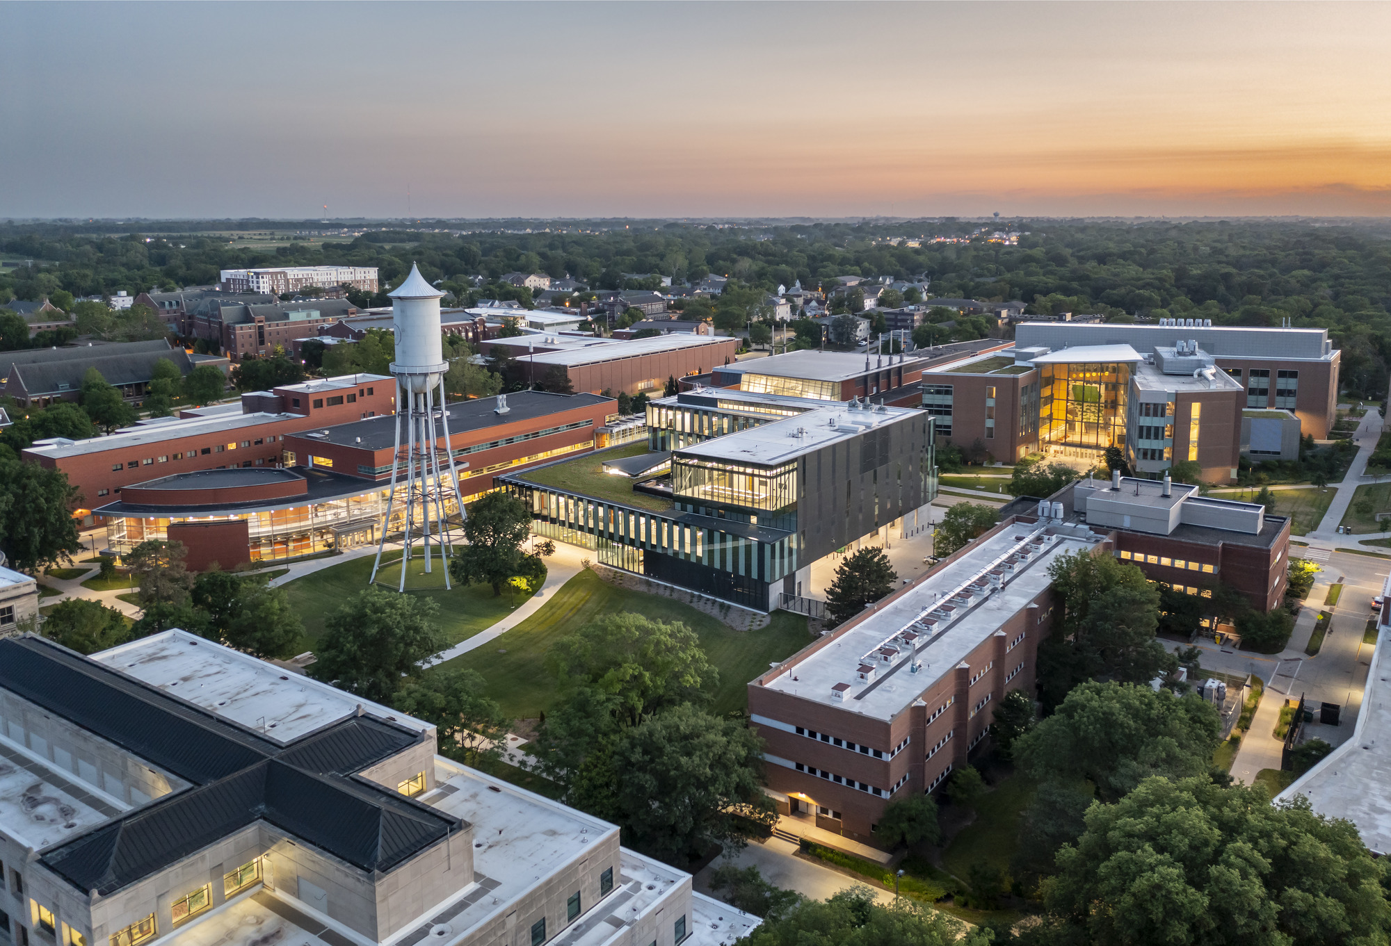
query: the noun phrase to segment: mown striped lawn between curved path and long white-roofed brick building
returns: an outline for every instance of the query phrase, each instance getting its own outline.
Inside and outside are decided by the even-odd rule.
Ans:
[[[488,682],[488,696],[502,711],[534,719],[555,698],[555,682],[542,669],[549,646],[606,614],[633,611],[658,620],[680,620],[700,636],[709,662],[719,668],[719,689],[711,710],[743,710],[747,684],[807,644],[807,619],[778,611],[762,630],[737,632],[690,605],[638,591],[616,588],[588,569],[566,582],[541,608],[485,647],[456,657],[448,666],[466,666]],[[506,652],[499,652],[506,651]]]

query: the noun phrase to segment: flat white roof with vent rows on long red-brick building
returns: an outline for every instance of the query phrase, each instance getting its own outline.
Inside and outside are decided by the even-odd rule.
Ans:
[[[1017,523],[1002,529],[989,538],[979,540],[961,558],[918,579],[860,623],[836,632],[819,650],[800,661],[787,662],[764,686],[874,719],[890,721],[928,687],[951,673],[1007,619],[1027,608],[1052,582],[1049,566],[1057,556],[1089,550],[1099,541],[1100,537],[1086,527],[1047,522]],[[1031,547],[1034,551],[1022,554]],[[958,588],[995,570],[999,562],[1011,556],[1015,558],[1011,566],[1000,569],[1003,587],[989,593],[979,588],[970,601],[958,598]],[[951,615],[958,616],[944,616],[944,605],[953,609]],[[915,644],[921,669],[917,672],[911,671],[912,646],[901,639],[894,640],[904,630],[918,634]],[[899,651],[889,665],[878,658],[879,650],[886,644]],[[876,668],[875,679],[868,683],[857,678],[857,668],[862,662]],[[837,684],[849,684],[843,700],[832,698],[832,687]]]

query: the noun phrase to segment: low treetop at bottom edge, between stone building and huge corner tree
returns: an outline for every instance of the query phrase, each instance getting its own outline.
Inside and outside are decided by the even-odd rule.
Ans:
[[[800,900],[782,917],[765,920],[741,940],[747,946],[986,946],[979,928],[910,900],[887,906],[869,888],[854,886],[826,900]]]

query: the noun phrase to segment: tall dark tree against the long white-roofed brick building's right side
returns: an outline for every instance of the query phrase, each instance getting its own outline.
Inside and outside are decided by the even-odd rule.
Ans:
[[[1134,565],[1110,555],[1060,555],[1049,566],[1063,602],[1061,630],[1039,644],[1040,693],[1056,705],[1074,684],[1096,676],[1148,683],[1178,669],[1155,640],[1159,590]]]

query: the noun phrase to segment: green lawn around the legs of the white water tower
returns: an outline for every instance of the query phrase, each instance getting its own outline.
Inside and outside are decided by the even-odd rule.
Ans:
[[[289,595],[289,604],[295,614],[305,623],[305,636],[310,644],[324,633],[324,622],[328,615],[342,608],[349,598],[367,587],[374,558],[374,555],[355,558],[281,586]],[[401,552],[388,552],[383,556],[383,568],[377,573],[377,582],[394,588],[399,580]],[[433,559],[430,575],[424,573],[421,559],[410,559],[406,590],[440,605],[440,627],[451,644],[458,644],[465,637],[472,637],[495,625],[508,615],[513,604],[512,595],[504,593],[502,597],[494,597],[492,588],[485,584],[460,587],[455,583],[453,590],[445,591],[444,570],[438,556]],[[516,602],[520,604],[524,600],[523,595],[517,595]]]

